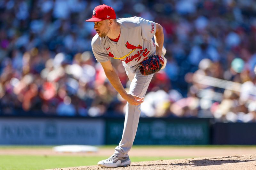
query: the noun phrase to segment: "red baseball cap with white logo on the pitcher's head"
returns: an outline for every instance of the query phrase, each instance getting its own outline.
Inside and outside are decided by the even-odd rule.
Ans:
[[[115,10],[108,5],[96,6],[92,13],[92,18],[86,20],[89,22],[103,21],[105,19],[116,19]]]

